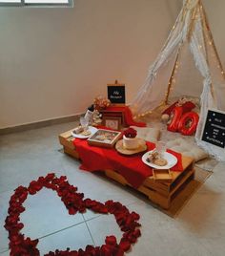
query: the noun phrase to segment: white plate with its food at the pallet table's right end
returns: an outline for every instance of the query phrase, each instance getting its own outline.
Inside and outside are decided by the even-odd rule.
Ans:
[[[142,156],[145,164],[153,167],[154,169],[171,169],[177,162],[176,157],[168,152],[158,153],[155,149],[146,152]]]

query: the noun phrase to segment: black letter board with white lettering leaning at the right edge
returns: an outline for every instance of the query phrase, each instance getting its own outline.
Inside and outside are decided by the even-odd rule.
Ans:
[[[225,148],[225,113],[214,110],[208,111],[202,140]]]

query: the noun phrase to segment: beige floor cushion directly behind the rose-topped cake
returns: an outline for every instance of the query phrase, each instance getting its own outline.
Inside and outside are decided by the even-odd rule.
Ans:
[[[151,142],[156,142],[159,139],[160,131],[156,128],[136,126],[131,127],[137,131],[137,138],[145,139]]]

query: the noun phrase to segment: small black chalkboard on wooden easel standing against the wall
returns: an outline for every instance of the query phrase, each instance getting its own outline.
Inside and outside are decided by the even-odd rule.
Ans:
[[[125,84],[108,84],[108,98],[113,104],[125,104]]]

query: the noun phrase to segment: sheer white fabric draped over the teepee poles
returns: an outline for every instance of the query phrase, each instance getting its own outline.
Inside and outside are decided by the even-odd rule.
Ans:
[[[208,109],[225,111],[225,100],[223,100],[225,98],[225,83],[221,70],[218,72],[215,59],[212,59],[215,49],[212,47],[212,43],[208,44],[211,42],[210,40],[212,40],[211,33],[206,26],[200,1],[186,0],[163,49],[150,67],[144,84],[133,98],[131,108],[134,115],[143,114],[152,111],[163,102],[174,67],[175,56],[184,43],[189,43],[195,67],[203,76],[200,117],[195,139],[216,159],[225,160],[224,149],[201,140]]]

